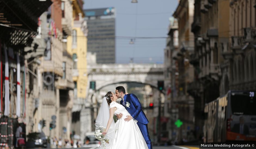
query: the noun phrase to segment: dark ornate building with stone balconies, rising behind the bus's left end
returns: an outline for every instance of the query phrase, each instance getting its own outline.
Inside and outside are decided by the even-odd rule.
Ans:
[[[194,33],[195,53],[190,63],[194,66],[194,81],[189,84],[188,93],[195,99],[196,138],[203,133],[205,104],[217,99],[223,81],[221,67],[227,67],[222,57],[223,48],[229,41],[229,2],[224,0],[195,1],[194,21],[191,25]],[[225,9],[223,9],[225,8]]]

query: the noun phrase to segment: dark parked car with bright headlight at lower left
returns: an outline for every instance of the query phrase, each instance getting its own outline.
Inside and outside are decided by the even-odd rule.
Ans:
[[[47,138],[44,132],[32,132],[27,135],[28,142],[34,142],[35,147],[47,148]]]

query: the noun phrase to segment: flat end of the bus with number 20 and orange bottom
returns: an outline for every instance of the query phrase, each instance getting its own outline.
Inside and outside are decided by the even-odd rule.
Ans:
[[[227,141],[256,141],[256,92],[229,93]]]

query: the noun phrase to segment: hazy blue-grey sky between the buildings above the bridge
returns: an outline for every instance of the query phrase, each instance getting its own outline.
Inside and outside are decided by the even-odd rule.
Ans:
[[[115,61],[116,63],[163,63],[169,17],[178,6],[178,0],[84,0],[83,9],[115,7]],[[133,38],[134,39],[134,38]]]

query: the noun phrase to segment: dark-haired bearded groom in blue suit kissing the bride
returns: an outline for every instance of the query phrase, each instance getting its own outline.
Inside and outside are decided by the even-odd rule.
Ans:
[[[148,134],[148,119],[145,113],[142,111],[141,103],[139,99],[134,94],[125,95],[125,89],[123,86],[118,86],[115,88],[115,94],[118,98],[122,98],[120,104],[123,105],[126,110],[131,114],[131,116],[127,116],[125,121],[130,121],[131,119],[135,119],[141,130],[141,133],[147,143],[148,149],[152,149],[151,140]],[[117,115],[117,118],[120,119],[122,114]]]

